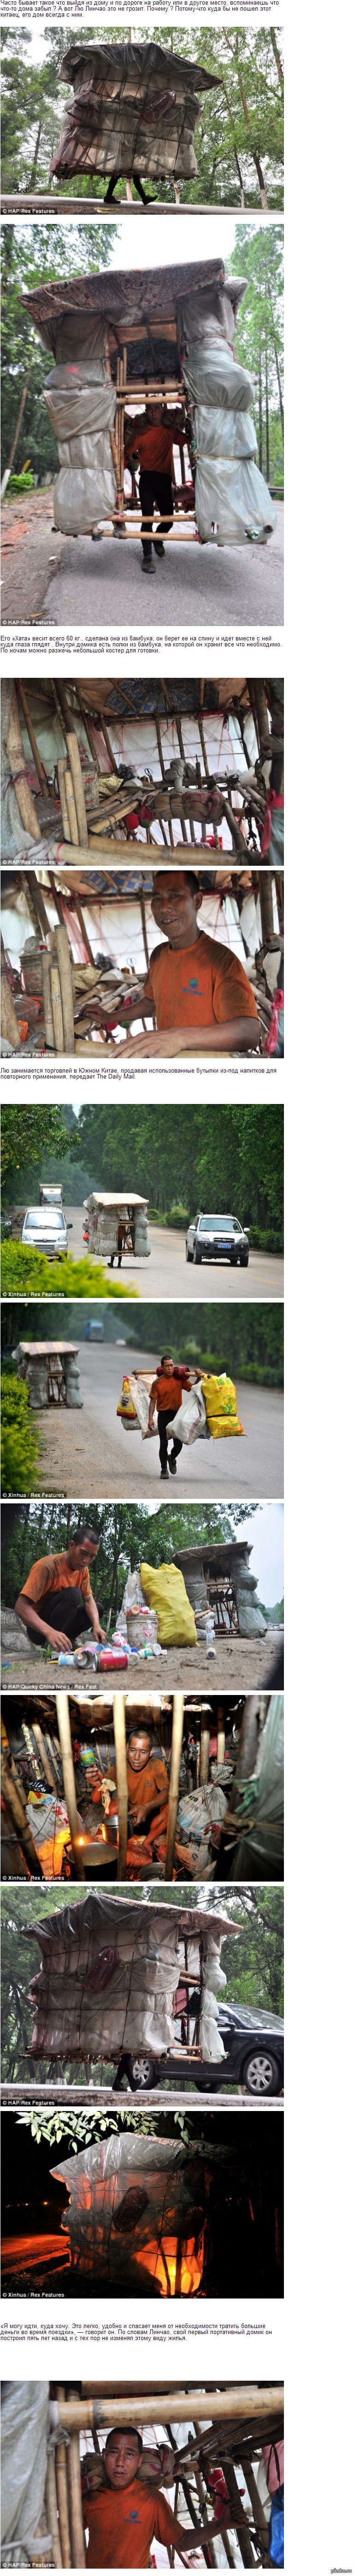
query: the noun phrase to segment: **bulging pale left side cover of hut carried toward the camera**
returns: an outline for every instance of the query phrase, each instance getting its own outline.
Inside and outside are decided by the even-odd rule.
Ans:
[[[80,337],[80,353],[77,353]],[[69,345],[69,358],[64,348]],[[56,337],[59,363],[44,384],[54,438],[59,443],[62,471],[54,479],[54,526],[64,536],[85,536],[97,520],[113,515],[115,469],[110,430],[115,420],[115,386],[103,363],[105,322],[74,317]]]

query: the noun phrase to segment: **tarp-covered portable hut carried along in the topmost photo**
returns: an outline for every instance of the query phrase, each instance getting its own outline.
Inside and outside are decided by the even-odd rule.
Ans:
[[[139,170],[141,178],[195,178],[198,93],[218,88],[213,72],[154,41],[72,44],[62,80],[72,80],[74,106],[64,108],[51,173],[115,170],[118,178]]]

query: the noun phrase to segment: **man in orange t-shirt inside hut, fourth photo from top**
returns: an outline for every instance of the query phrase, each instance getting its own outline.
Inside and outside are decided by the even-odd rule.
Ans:
[[[208,1048],[215,1043],[231,1054],[249,1054],[259,1046],[259,1012],[241,958],[208,930],[198,927],[203,894],[192,868],[159,871],[154,878],[151,914],[164,930],[164,945],[151,951],[149,974],[141,984],[141,1010],[154,1007],[156,1028],[187,1028],[190,1043],[205,1030]],[[128,1051],[139,1038],[128,1041]],[[149,1043],[149,1041],[146,1041]]]

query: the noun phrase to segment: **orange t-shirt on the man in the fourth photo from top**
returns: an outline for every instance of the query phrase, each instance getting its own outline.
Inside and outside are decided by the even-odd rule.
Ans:
[[[257,1020],[257,1002],[239,958],[221,940],[198,933],[192,948],[151,951],[149,987],[156,1028],[213,1028],[215,1020]]]

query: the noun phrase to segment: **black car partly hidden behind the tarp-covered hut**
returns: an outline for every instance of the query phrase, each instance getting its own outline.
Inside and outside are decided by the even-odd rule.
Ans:
[[[187,2058],[151,2058],[144,2048],[136,2056],[123,2056],[115,2076],[128,2076],[131,2092],[151,2092],[154,2084],[164,2079],[182,2084],[198,2084],[198,2092],[221,2092],[223,2084],[246,2084],[246,2092],[264,2102],[269,2094],[280,2094],[285,2084],[285,2022],[277,2012],[251,2012],[249,2004],[221,2004],[218,2030],[226,2048],[226,2058],[205,2058],[190,2066]]]

